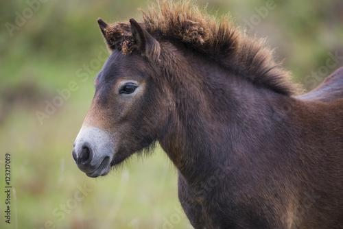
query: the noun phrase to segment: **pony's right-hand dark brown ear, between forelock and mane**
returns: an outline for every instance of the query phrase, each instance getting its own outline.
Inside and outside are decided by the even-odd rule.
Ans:
[[[138,51],[152,61],[158,61],[161,53],[160,43],[152,37],[136,20],[130,19],[131,32]]]

